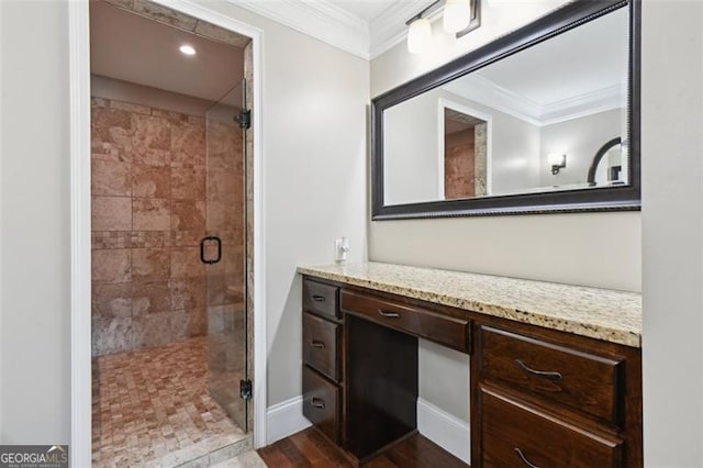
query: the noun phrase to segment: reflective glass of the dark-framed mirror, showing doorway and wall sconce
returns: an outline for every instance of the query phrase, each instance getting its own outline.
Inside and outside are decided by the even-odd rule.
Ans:
[[[628,9],[383,110],[383,204],[626,186]],[[550,160],[550,155],[560,159]]]

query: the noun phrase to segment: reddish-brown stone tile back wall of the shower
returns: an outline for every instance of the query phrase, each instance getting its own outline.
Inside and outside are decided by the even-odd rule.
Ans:
[[[199,243],[208,215],[236,222],[208,213],[204,118],[93,98],[91,130],[93,355],[204,335]],[[241,149],[232,156],[230,164],[241,160]]]

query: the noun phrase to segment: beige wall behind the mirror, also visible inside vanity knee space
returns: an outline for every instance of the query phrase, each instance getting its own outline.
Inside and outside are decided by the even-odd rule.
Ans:
[[[436,22],[429,53],[411,55],[403,43],[371,62],[371,97],[518,27],[558,3],[517,7],[510,2],[495,8],[484,3],[481,27],[456,42],[437,31],[442,22]],[[369,259],[376,261],[640,290],[639,213],[380,221],[369,223],[368,236]],[[468,357],[421,342],[420,366],[421,398],[468,421]]]

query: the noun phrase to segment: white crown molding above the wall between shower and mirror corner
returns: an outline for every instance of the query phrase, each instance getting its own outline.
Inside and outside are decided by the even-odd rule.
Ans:
[[[369,24],[330,1],[230,1],[334,47],[370,59]]]

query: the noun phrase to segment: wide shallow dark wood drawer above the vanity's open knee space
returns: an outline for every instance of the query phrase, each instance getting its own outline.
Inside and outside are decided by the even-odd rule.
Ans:
[[[442,315],[417,307],[342,291],[342,309],[384,326],[440,343],[464,353],[469,352],[468,320]]]

